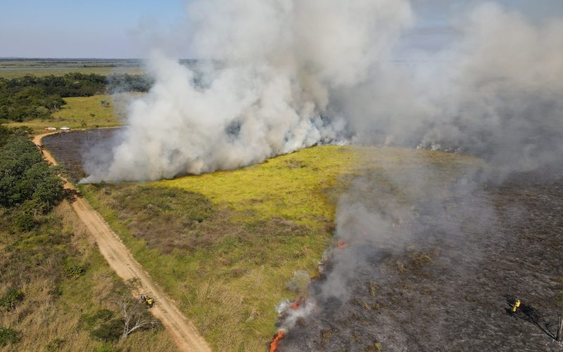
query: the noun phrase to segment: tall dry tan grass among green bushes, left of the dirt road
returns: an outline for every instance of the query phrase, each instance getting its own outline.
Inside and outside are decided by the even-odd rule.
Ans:
[[[87,271],[81,277],[58,283],[61,291],[58,297],[53,297],[51,292],[55,283],[48,275],[42,275],[42,270],[54,270],[56,260],[61,258],[49,258],[42,270],[33,275],[22,272],[21,281],[25,282],[20,287],[25,294],[23,301],[12,310],[0,310],[0,326],[15,329],[20,341],[0,347],[0,351],[46,351],[49,342],[56,339],[60,340],[58,351],[93,351],[100,346],[119,351],[175,351],[175,344],[165,329],[137,332],[124,341],[110,344],[92,339],[82,329],[82,315],[112,308],[111,298],[122,291],[124,285],[103,260],[70,205],[65,201],[53,213],[61,220],[58,230],[72,233],[69,246],[81,262],[87,263]],[[6,289],[7,284],[1,283],[0,293]]]

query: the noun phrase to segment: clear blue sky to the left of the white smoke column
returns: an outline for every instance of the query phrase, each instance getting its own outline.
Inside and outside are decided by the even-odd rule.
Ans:
[[[131,58],[139,27],[181,23],[184,0],[0,0],[0,57]]]

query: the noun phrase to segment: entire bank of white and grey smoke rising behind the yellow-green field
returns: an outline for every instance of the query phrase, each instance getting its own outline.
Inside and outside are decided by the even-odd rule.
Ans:
[[[393,63],[407,0],[206,0],[188,9],[191,70],[154,53],[154,87],[129,107],[113,162],[86,182],[239,168],[323,142],[460,150],[509,170],[563,152],[563,21],[495,3],[455,41]]]

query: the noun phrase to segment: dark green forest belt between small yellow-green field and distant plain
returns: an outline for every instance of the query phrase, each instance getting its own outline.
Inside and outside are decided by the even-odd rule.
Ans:
[[[0,120],[23,122],[49,118],[65,104],[63,98],[114,92],[146,92],[151,80],[141,75],[25,76],[6,80],[0,77]]]

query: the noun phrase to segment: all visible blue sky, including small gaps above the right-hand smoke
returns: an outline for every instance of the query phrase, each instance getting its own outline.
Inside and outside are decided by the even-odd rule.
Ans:
[[[162,33],[182,37],[187,0],[0,0],[0,57],[132,58]],[[453,8],[480,0],[412,0],[429,44]],[[563,0],[498,0],[533,20],[563,17]],[[171,42],[174,42],[172,39]],[[184,45],[183,43],[181,45]],[[189,56],[182,47],[181,56]]]

